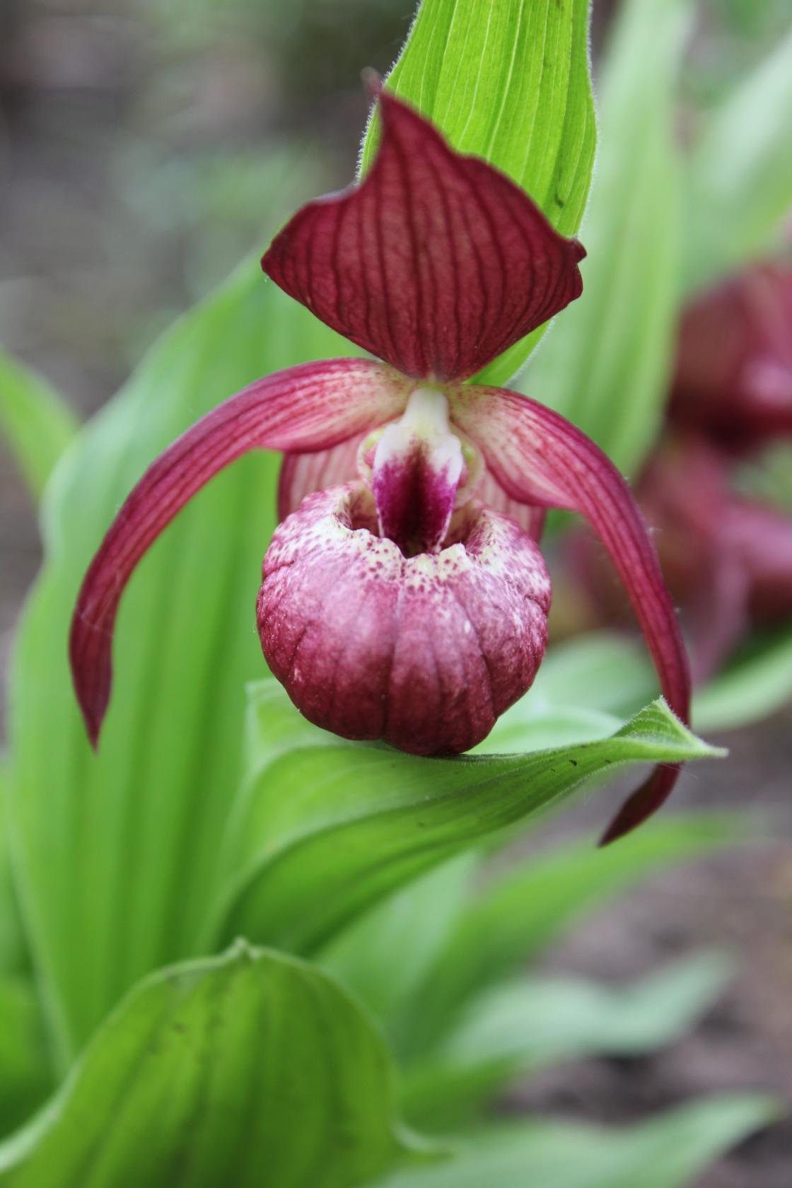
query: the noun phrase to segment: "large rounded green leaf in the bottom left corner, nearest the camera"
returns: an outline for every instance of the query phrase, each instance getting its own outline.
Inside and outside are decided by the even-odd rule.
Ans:
[[[385,1044],[335,982],[240,941],[123,1000],[45,1113],[0,1148],[0,1184],[351,1188],[418,1156],[392,1081]]]

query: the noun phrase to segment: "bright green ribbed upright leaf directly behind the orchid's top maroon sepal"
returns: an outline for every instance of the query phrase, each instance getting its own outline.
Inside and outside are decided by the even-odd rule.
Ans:
[[[387,87],[450,144],[507,173],[564,235],[579,227],[596,126],[588,63],[589,0],[423,0]],[[373,158],[368,128],[361,170]],[[477,377],[506,383],[541,330]]]

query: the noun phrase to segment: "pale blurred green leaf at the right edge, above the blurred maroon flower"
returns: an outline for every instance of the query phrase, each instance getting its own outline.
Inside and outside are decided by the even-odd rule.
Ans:
[[[688,291],[778,247],[792,206],[792,29],[709,115],[689,163]]]

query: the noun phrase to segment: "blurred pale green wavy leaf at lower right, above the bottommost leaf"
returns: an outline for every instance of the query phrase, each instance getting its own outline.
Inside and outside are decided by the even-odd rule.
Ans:
[[[583,1056],[638,1056],[683,1036],[731,973],[701,953],[623,987],[537,978],[474,1000],[429,1057],[405,1073],[407,1117],[426,1129],[464,1121],[517,1076]]]

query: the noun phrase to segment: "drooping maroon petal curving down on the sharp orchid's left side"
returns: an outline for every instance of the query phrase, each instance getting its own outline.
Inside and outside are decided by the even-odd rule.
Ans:
[[[258,380],[213,409],[146,470],[85,574],[70,658],[94,745],[110,696],[115,613],[144,552],[177,512],[229,462],[252,449],[318,449],[398,416],[410,385],[365,359],[305,364]]]

